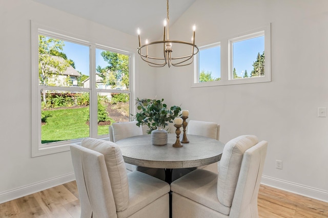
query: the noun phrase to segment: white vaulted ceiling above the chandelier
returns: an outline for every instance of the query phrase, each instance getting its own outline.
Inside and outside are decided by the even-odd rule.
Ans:
[[[109,28],[136,35],[137,28],[149,38],[162,34],[163,20],[167,16],[166,0],[33,0],[65,11]],[[196,0],[169,2],[172,25]],[[144,35],[143,34],[143,35]],[[146,37],[146,35],[145,35]]]

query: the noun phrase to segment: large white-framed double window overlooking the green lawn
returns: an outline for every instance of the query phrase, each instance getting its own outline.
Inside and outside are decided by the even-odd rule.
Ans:
[[[131,53],[32,26],[32,156],[129,121]]]

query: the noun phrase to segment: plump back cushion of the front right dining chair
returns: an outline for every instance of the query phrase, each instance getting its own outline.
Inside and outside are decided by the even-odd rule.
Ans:
[[[218,173],[217,197],[221,204],[231,207],[244,152],[258,143],[256,136],[239,136],[223,148]]]

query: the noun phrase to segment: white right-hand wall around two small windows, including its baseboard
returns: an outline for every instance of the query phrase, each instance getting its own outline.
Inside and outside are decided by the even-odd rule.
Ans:
[[[224,143],[245,134],[267,140],[262,183],[328,202],[328,118],[317,117],[317,107],[328,107],[328,2],[197,0],[170,37],[189,40],[196,24],[196,45],[224,46],[268,23],[272,82],[191,88],[193,66],[166,68],[158,70],[157,95],[182,103],[189,119],[218,122]]]

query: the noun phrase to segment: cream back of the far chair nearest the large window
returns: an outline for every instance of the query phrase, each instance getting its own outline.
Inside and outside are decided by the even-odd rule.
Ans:
[[[111,127],[109,127],[110,141],[117,142],[118,140],[125,139],[132,136],[142,135],[142,127],[137,126],[137,121],[119,122],[112,124],[112,140],[111,140]]]

